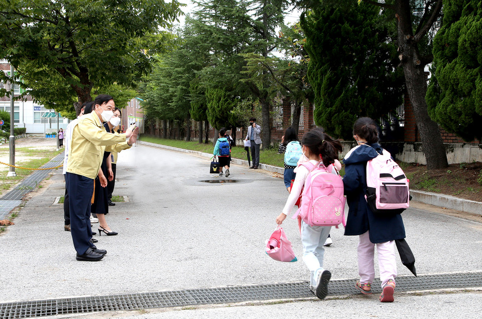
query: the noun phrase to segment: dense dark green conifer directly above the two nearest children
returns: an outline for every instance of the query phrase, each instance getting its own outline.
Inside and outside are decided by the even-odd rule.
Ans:
[[[358,117],[377,119],[402,103],[397,49],[378,8],[358,6],[357,0],[322,0],[301,16],[301,26],[317,125],[350,139]]]

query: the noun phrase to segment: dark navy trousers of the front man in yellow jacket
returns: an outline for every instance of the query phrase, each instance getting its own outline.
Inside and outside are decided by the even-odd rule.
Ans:
[[[65,186],[69,194],[70,233],[75,250],[84,254],[92,238],[90,228],[90,201],[94,192],[94,180],[73,173],[65,174]]]

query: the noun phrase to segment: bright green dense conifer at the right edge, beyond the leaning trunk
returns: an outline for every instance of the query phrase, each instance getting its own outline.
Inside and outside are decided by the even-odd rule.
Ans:
[[[433,40],[429,114],[466,141],[482,140],[482,5],[445,0],[443,10],[443,25]]]

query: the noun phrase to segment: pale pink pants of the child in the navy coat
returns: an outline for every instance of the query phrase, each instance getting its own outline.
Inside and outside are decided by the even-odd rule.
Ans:
[[[358,243],[358,274],[360,283],[372,283],[375,279],[375,245],[377,245],[378,267],[380,268],[380,280],[382,287],[387,281],[397,276],[397,262],[395,259],[395,242],[393,240],[384,243],[374,244],[370,241],[367,231],[360,235]]]

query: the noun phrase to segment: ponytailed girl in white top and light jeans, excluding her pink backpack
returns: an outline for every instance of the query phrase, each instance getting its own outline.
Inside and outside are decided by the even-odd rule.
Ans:
[[[278,225],[283,223],[286,216],[295,206],[310,171],[322,167],[323,170],[336,174],[333,163],[338,158],[338,152],[342,150],[339,141],[333,140],[325,134],[322,128],[314,128],[303,136],[301,144],[303,154],[309,161],[298,165],[295,169],[296,178],[291,188],[290,196],[282,213],[276,218]],[[309,170],[309,167],[312,170]],[[339,178],[338,176],[336,177]],[[303,197],[301,202],[303,203]],[[331,278],[331,272],[323,268],[323,245],[330,233],[330,229],[331,226],[310,226],[305,220],[301,221],[300,232],[303,245],[303,261],[311,272],[310,289],[320,299],[323,299],[328,294],[328,282]]]

